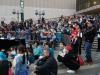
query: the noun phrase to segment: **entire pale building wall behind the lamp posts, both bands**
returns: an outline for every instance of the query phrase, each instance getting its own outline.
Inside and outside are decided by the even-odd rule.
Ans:
[[[0,20],[2,17],[8,23],[11,20],[17,20],[17,15],[13,15],[13,9],[19,10],[20,0],[0,0]],[[45,18],[65,16],[75,13],[75,0],[24,0],[25,1],[25,19],[37,19],[35,10],[44,10]]]

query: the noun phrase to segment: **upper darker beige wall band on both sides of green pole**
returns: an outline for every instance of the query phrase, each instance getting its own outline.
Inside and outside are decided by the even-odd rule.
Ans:
[[[26,7],[76,9],[76,0],[24,0]],[[20,0],[0,0],[0,5],[19,6]]]

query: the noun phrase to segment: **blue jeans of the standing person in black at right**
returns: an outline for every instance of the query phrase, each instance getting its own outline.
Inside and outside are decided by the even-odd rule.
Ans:
[[[86,61],[89,62],[92,60],[91,57],[91,48],[92,48],[92,43],[90,42],[85,42],[85,53],[86,53]]]

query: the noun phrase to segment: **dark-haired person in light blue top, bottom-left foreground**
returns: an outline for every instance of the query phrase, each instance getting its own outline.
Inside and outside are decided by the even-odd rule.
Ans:
[[[18,51],[18,54],[13,60],[14,75],[28,75],[25,47],[23,45],[19,45]]]

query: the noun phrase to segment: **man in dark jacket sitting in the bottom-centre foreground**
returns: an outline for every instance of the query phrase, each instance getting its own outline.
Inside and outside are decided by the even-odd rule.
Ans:
[[[44,56],[37,61],[35,69],[37,75],[57,75],[57,62],[50,56],[49,50],[44,50]]]

